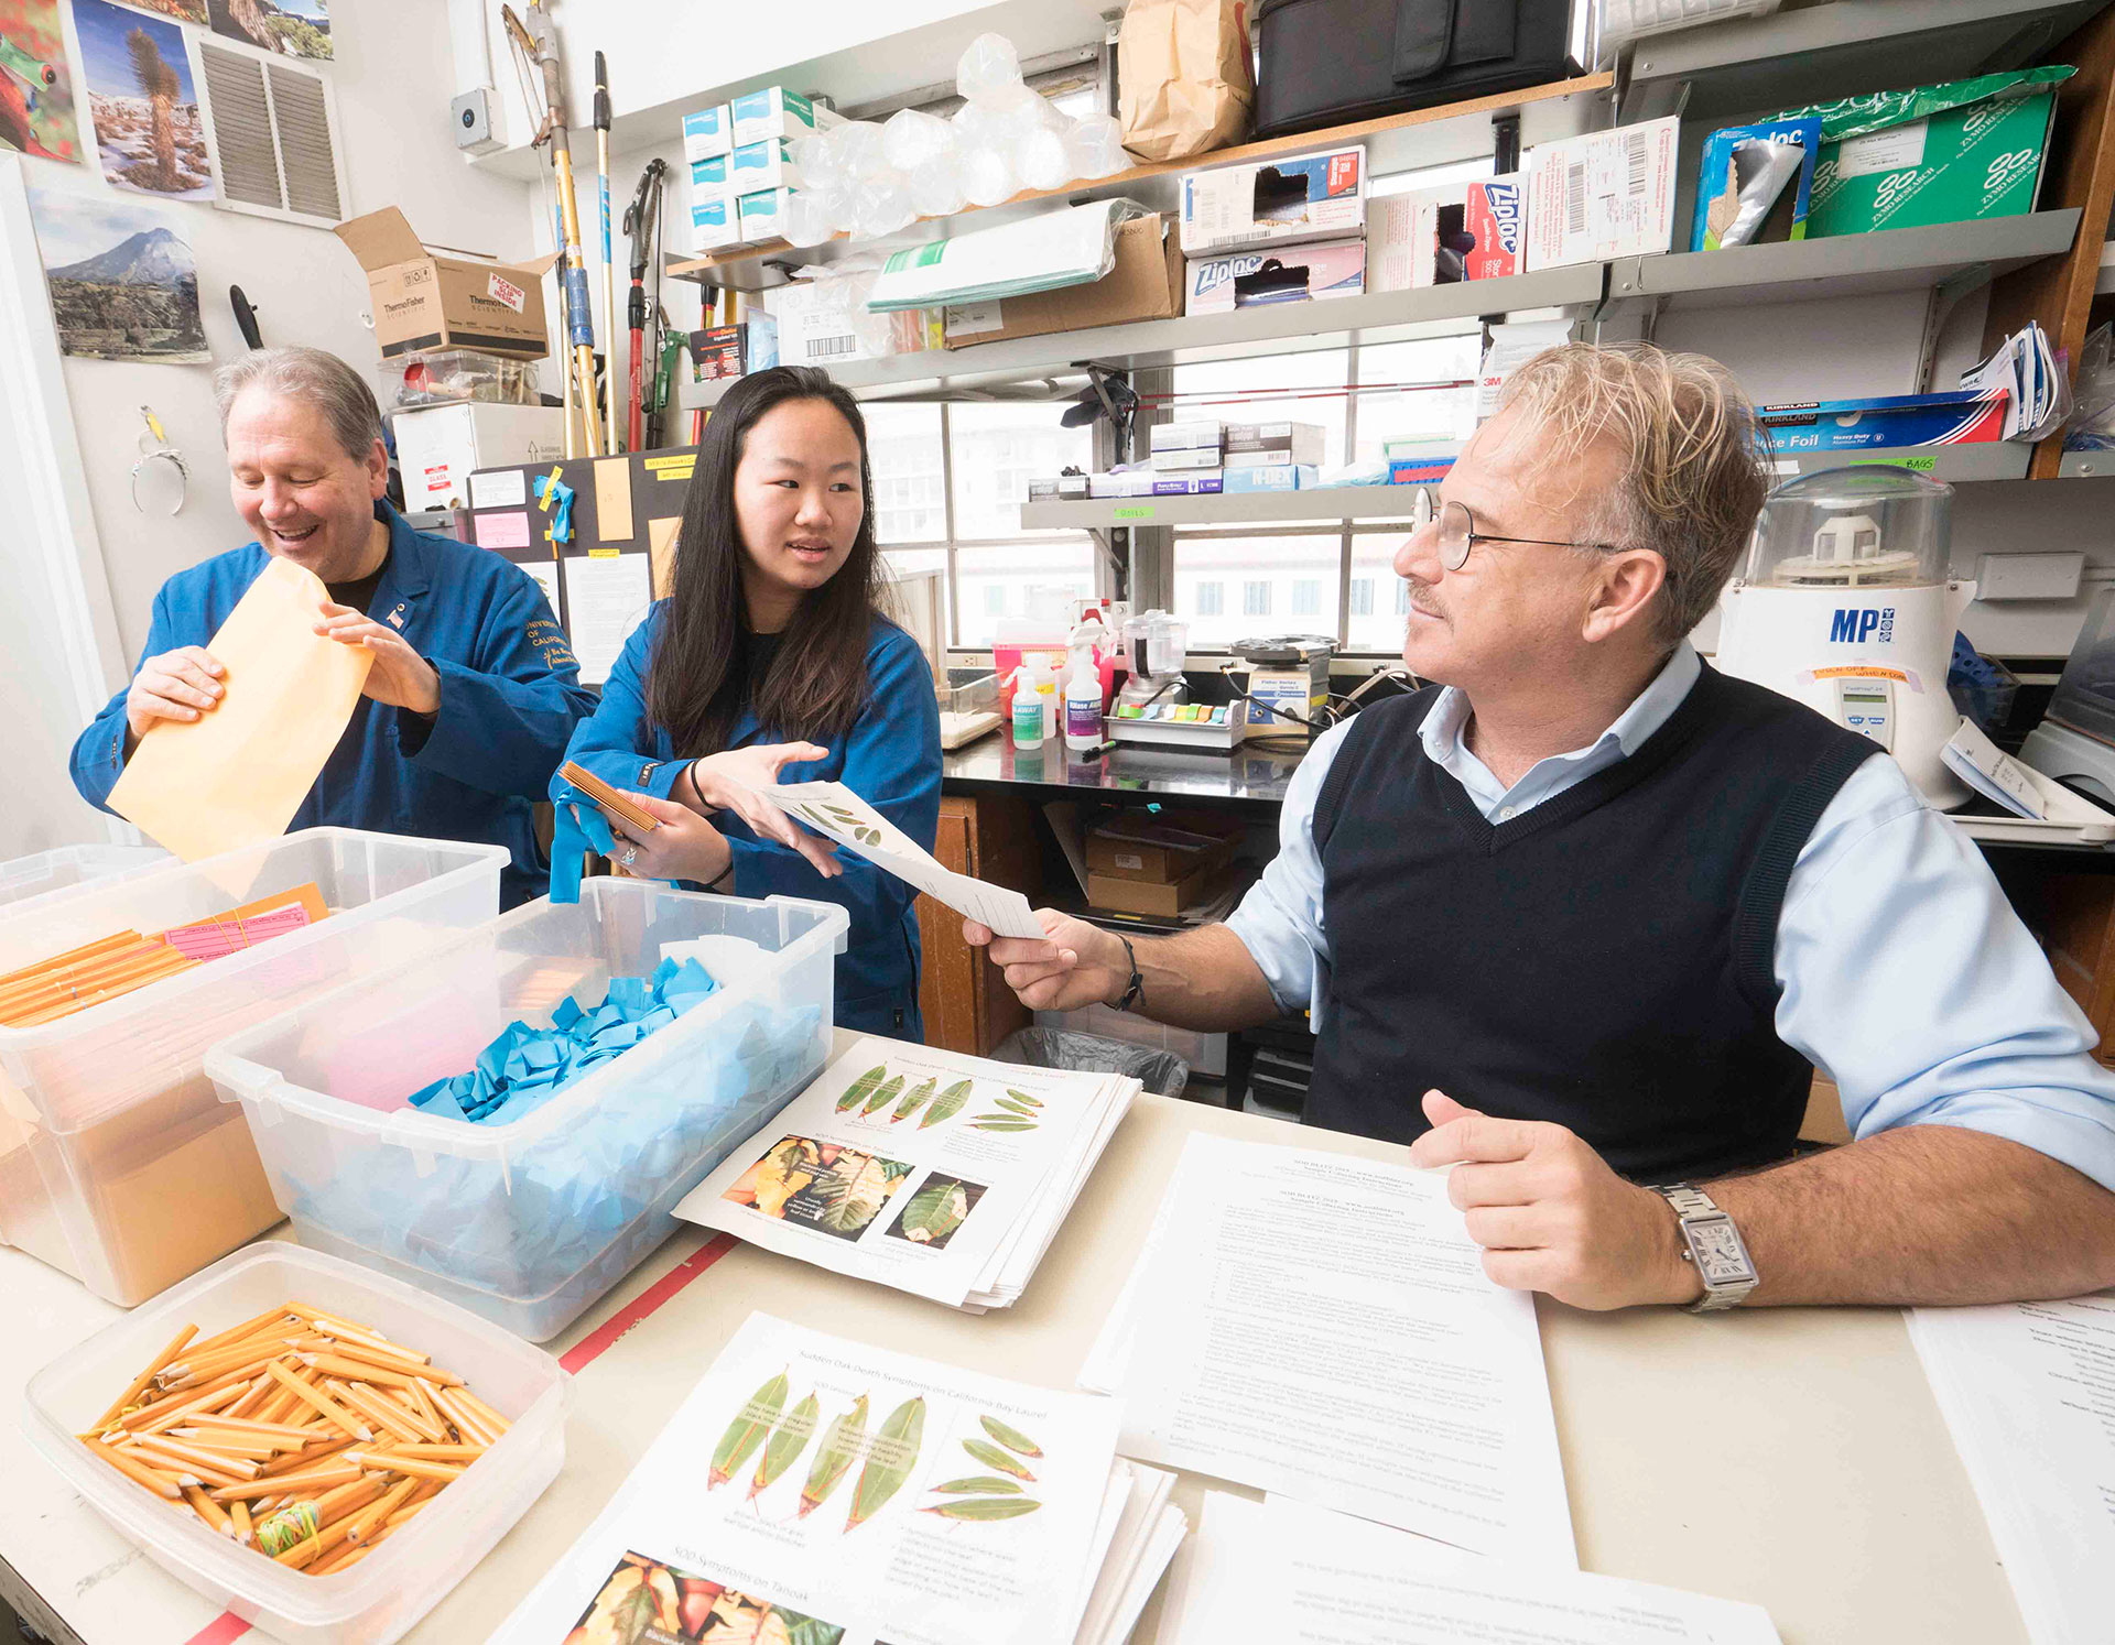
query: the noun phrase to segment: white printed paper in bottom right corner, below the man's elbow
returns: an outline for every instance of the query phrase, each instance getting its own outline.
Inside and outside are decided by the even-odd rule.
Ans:
[[[1908,1319],[2028,1639],[2109,1639],[2115,1292]]]

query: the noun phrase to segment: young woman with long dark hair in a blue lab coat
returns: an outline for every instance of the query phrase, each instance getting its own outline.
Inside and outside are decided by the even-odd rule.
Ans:
[[[698,450],[673,592],[632,632],[567,757],[658,820],[645,839],[611,839],[632,873],[842,903],[838,1023],[920,1040],[916,892],[742,791],[780,772],[844,782],[933,848],[939,702],[918,643],[878,609],[884,577],[854,400],[812,368],[742,378]],[[552,799],[563,886],[586,801],[563,778]]]

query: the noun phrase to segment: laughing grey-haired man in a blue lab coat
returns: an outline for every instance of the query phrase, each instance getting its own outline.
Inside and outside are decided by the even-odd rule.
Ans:
[[[505,846],[501,905],[539,897],[531,827],[594,700],[544,590],[501,556],[412,531],[383,501],[374,393],[321,349],[258,349],[214,378],[235,507],[254,543],[180,571],[154,596],[131,687],[74,742],[74,787],[104,806],[157,719],[218,706],[205,649],[281,556],[330,590],[317,632],[374,653],[353,719],[290,827],[341,825]]]

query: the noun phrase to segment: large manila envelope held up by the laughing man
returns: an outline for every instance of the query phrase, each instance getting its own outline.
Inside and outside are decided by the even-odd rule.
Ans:
[[[315,632],[326,598],[313,573],[271,560],[205,647],[226,670],[220,706],[148,725],[110,810],[186,863],[286,833],[374,662]]]

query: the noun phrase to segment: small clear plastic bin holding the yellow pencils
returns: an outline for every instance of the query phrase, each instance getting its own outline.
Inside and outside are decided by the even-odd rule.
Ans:
[[[389,1537],[336,1575],[290,1571],[209,1531],[97,1461],[74,1436],[190,1324],[201,1336],[300,1300],[347,1313],[434,1355],[512,1427],[434,1497],[417,1535]],[[163,1571],[286,1645],[389,1645],[484,1558],[565,1465],[571,1379],[541,1349],[383,1275],[266,1241],[216,1262],[152,1307],[112,1321],[30,1379],[36,1453]]]

